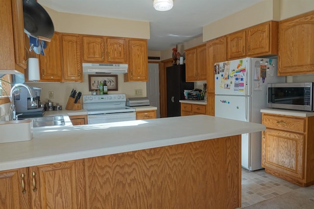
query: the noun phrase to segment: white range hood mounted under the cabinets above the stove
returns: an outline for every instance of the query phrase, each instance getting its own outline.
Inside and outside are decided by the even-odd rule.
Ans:
[[[128,72],[128,64],[95,64],[83,63],[85,74],[121,74]]]

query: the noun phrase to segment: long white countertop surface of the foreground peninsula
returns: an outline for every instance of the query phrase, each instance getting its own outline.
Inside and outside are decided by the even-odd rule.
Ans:
[[[0,171],[262,130],[262,124],[206,115],[38,127],[29,141],[0,143]]]

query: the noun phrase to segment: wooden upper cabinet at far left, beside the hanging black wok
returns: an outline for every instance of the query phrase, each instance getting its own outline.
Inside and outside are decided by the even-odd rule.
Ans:
[[[2,0],[0,13],[0,74],[23,74],[26,47],[22,0]]]

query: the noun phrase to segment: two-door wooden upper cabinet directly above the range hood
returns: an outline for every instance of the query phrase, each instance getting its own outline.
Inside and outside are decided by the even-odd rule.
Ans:
[[[82,43],[84,63],[128,63],[125,38],[82,35]]]

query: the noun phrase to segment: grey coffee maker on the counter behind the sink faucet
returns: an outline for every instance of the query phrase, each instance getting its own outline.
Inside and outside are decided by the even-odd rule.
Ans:
[[[31,106],[30,94],[25,87],[19,87],[20,90],[14,91],[14,105],[16,114],[22,114],[19,118],[26,117],[42,117],[45,114],[44,108],[40,106],[41,89],[37,87],[30,87],[34,95],[34,100],[37,106]],[[39,108],[38,108],[39,107]]]

